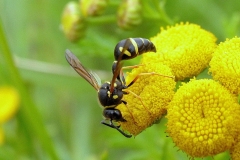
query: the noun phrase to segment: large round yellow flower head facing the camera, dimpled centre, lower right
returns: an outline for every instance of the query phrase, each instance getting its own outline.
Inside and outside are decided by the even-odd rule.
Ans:
[[[192,157],[229,150],[240,131],[240,106],[214,80],[191,80],[169,104],[167,132],[176,146]]]

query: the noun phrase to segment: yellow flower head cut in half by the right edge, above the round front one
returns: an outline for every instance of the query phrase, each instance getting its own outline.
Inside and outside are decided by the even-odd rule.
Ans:
[[[231,93],[240,94],[240,38],[227,39],[219,44],[209,71]]]

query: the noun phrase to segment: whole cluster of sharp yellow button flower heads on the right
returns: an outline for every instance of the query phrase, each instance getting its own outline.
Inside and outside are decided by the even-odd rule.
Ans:
[[[217,45],[217,38],[196,24],[161,28],[151,38],[157,52],[145,53],[127,83],[141,73],[119,105],[123,130],[137,135],[166,114],[167,134],[191,157],[230,150],[240,159],[240,38]],[[213,79],[193,78],[210,65]],[[164,77],[175,76],[175,79]],[[193,78],[178,89],[176,81]],[[164,132],[164,131],[163,131]]]

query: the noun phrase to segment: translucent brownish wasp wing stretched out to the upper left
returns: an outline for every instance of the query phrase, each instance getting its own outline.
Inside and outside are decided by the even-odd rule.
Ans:
[[[68,63],[72,66],[72,68],[98,91],[101,82],[97,74],[85,69],[85,67],[82,65],[79,59],[70,50],[67,49],[65,51],[65,56]]]

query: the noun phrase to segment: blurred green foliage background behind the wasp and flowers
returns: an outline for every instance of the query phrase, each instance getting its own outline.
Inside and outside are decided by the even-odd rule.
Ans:
[[[60,30],[69,1],[0,1],[0,86],[15,86],[22,98],[16,117],[3,126],[6,137],[0,159],[189,159],[167,137],[166,119],[131,139],[101,125],[96,91],[70,68],[64,51],[71,49],[86,68],[103,81],[110,80],[113,49],[119,40],[150,38],[160,27],[188,21],[214,33],[221,42],[240,35],[240,1],[142,0],[142,23],[127,31],[115,19],[104,21],[115,16],[120,3],[109,1],[102,16],[89,18],[85,37],[77,43],[69,42]],[[15,71],[6,56],[8,48]],[[214,159],[229,159],[229,153]]]

